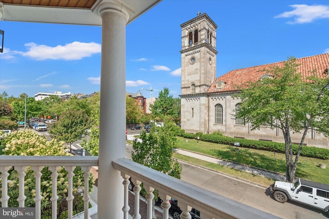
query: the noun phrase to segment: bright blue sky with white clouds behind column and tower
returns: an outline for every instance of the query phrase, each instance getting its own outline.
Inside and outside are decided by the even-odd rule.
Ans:
[[[234,69],[329,52],[328,1],[163,0],[126,26],[126,91],[180,94],[180,24],[217,24],[217,77]],[[0,21],[0,93],[100,90],[101,27]],[[151,92],[141,90],[149,98]]]

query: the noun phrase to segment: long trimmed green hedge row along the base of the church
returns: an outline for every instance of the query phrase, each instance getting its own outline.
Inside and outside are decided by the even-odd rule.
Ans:
[[[199,139],[204,142],[211,142],[216,144],[223,144],[223,145],[234,145],[235,142],[239,142],[240,147],[243,148],[252,148],[257,150],[266,150],[272,151],[277,153],[285,153],[285,144],[278,143],[278,142],[267,142],[267,141],[257,141],[257,140],[249,140],[244,138],[234,138],[234,137],[227,137],[223,135],[217,134],[191,134],[191,133],[179,133],[179,136],[184,138],[196,138],[199,136]],[[294,154],[298,151],[298,145],[293,145],[293,152]],[[314,157],[320,158],[323,160],[329,159],[329,150],[326,148],[317,148],[317,147],[308,147],[303,146],[301,156],[307,157]]]

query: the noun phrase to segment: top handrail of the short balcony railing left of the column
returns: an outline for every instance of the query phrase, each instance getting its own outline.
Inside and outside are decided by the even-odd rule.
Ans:
[[[98,166],[98,156],[0,155],[0,166]]]

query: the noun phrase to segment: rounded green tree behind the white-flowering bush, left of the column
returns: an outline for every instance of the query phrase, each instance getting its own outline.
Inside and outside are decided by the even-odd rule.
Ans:
[[[50,126],[49,133],[59,141],[64,141],[70,146],[80,140],[90,127],[90,118],[83,110],[65,111],[59,121]]]

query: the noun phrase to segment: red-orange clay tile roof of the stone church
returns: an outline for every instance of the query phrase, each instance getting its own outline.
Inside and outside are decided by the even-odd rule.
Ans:
[[[212,83],[207,92],[221,93],[236,91],[236,85],[242,85],[248,81],[258,81],[261,76],[266,74],[266,72],[262,71],[263,69],[269,69],[272,66],[283,67],[284,62],[232,70],[218,77],[215,82]],[[328,75],[329,73],[328,70],[326,70],[329,68],[329,53],[297,58],[296,63],[300,64],[298,72],[301,72],[303,76],[311,76],[312,73],[310,72],[314,69],[316,69],[316,74],[319,75],[319,77],[325,77],[325,75]],[[225,87],[223,89],[216,89],[217,82],[225,82]]]

